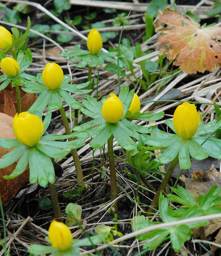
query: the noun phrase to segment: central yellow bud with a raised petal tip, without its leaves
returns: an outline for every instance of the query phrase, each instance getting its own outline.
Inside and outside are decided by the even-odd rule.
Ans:
[[[115,94],[110,96],[103,103],[102,116],[108,123],[115,124],[123,117],[123,104]]]

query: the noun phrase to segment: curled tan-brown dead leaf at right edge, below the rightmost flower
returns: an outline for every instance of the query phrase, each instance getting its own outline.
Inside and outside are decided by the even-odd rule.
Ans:
[[[214,165],[211,166],[207,173],[203,173],[201,170],[197,173],[192,173],[192,178],[189,179],[182,175],[180,180],[185,183],[187,191],[193,197],[198,197],[199,194],[205,195],[214,185],[221,188],[221,173],[214,168]]]

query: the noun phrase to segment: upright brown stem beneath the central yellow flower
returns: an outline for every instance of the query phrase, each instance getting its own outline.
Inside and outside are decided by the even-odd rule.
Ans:
[[[110,180],[111,180],[111,202],[118,196],[117,177],[114,163],[113,151],[113,135],[108,139],[108,154],[109,154],[109,167],[110,167]],[[113,215],[117,213],[118,204],[115,202],[112,206]]]

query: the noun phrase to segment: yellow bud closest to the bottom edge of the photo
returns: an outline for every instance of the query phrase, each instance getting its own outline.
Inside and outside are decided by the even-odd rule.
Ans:
[[[71,230],[62,222],[53,220],[48,229],[51,245],[60,251],[70,248],[72,243]]]

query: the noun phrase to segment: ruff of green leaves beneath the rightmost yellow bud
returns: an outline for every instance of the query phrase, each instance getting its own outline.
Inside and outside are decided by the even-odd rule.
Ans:
[[[165,124],[175,132],[172,120],[167,120]],[[220,129],[220,126],[221,120],[217,123],[216,120],[213,120],[199,127],[195,135],[188,141],[180,139],[177,134],[166,133],[155,128],[153,130],[154,136],[143,134],[141,135],[141,140],[149,146],[168,147],[156,161],[166,164],[171,162],[179,154],[180,168],[189,169],[191,167],[190,155],[199,161],[208,156],[218,159],[221,158],[220,141],[212,138],[210,135],[205,135],[208,133],[213,134],[216,130]]]

